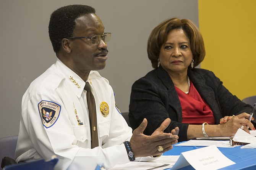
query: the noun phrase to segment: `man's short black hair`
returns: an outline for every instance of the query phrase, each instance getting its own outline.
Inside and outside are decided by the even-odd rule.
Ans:
[[[68,5],[55,10],[50,17],[49,37],[55,53],[60,50],[62,38],[72,37],[75,19],[84,14],[95,14],[95,9],[87,5]]]

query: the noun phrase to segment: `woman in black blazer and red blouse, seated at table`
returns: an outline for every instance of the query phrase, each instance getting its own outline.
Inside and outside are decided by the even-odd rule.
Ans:
[[[255,130],[248,120],[252,106],[232,95],[213,72],[194,68],[203,61],[205,49],[192,21],[170,18],[160,23],[149,36],[147,53],[154,70],[133,84],[129,106],[133,129],[146,118],[144,134],[151,135],[170,118],[165,132],[178,127],[179,141],[232,136],[238,128],[249,133],[247,126]]]

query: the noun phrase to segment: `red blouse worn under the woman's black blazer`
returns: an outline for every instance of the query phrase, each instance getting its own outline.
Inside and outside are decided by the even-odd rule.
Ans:
[[[182,123],[202,124],[207,122],[215,124],[214,115],[208,104],[201,98],[200,94],[190,81],[190,90],[186,94],[175,87],[182,109]]]

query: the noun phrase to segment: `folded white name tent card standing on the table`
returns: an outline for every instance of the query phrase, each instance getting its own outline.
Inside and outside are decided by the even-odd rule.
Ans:
[[[182,152],[177,162],[173,165],[172,170],[177,170],[188,165],[191,165],[196,170],[217,170],[233,164],[235,162],[225,157],[213,145]]]

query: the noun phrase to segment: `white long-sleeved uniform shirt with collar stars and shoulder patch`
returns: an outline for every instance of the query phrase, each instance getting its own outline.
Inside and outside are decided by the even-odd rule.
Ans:
[[[57,59],[23,96],[16,161],[56,155],[56,170],[90,170],[97,164],[110,168],[129,162],[123,142],[130,140],[132,130],[115,107],[112,87],[97,71],[91,71],[87,81],[96,101],[100,147],[91,149],[85,82]],[[109,106],[105,117],[102,102]]]

